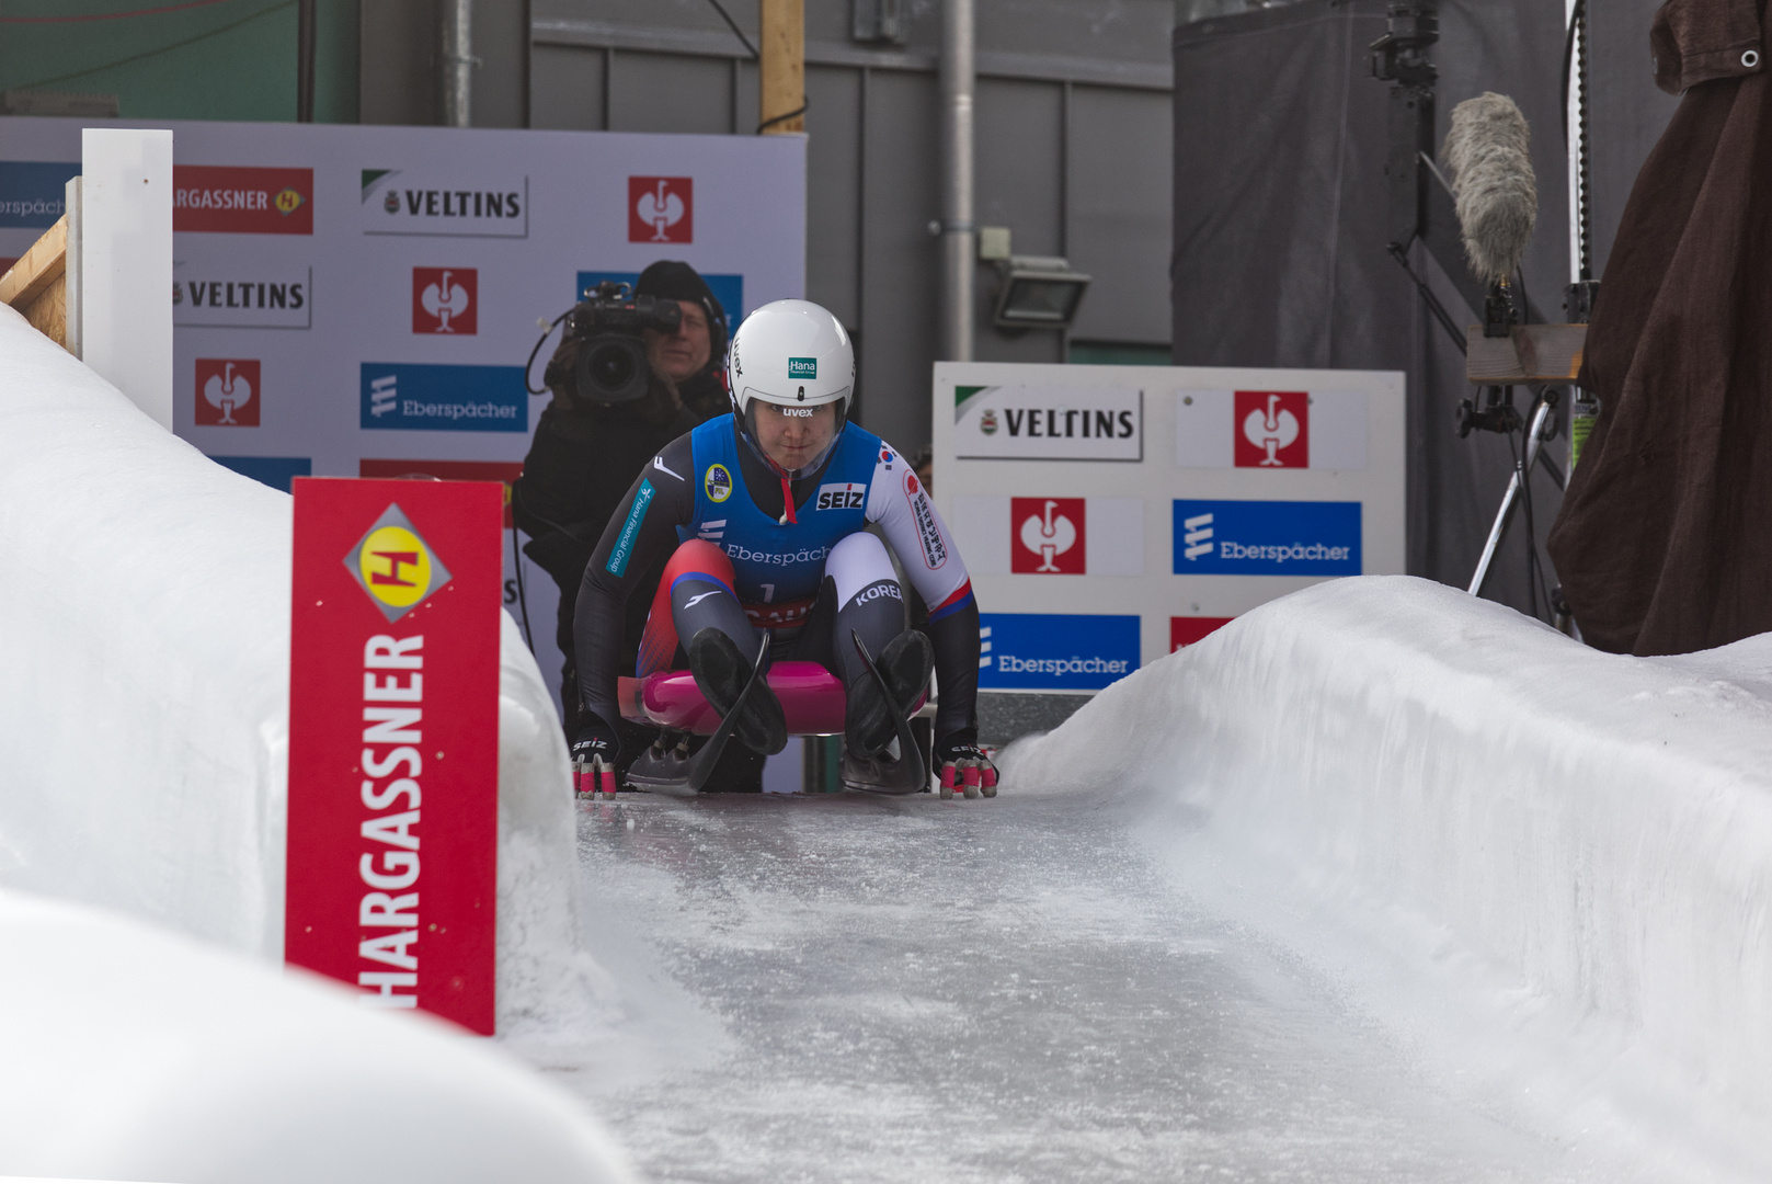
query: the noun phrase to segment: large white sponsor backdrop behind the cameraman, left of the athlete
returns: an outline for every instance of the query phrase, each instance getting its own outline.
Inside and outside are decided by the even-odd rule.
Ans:
[[[680,259],[734,328],[804,294],[799,136],[9,117],[0,259],[62,216],[83,126],[172,129],[174,431],[282,489],[370,459],[521,464],[537,317],[595,280]],[[523,560],[519,601],[510,555],[558,693],[555,585]]]

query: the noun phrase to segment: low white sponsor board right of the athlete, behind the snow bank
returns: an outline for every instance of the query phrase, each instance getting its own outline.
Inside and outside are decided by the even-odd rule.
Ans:
[[[937,362],[978,686],[1093,693],[1263,601],[1403,571],[1403,376]]]

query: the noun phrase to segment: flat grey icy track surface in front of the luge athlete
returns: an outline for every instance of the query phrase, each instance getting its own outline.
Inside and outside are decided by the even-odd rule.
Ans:
[[[1579,1180],[1077,798],[581,805],[654,1180]],[[641,1069],[641,1065],[647,1065]]]

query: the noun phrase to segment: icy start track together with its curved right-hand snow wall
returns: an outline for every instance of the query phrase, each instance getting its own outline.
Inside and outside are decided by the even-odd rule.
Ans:
[[[657,1180],[1754,1180],[1772,638],[1269,604],[996,801],[579,806]]]

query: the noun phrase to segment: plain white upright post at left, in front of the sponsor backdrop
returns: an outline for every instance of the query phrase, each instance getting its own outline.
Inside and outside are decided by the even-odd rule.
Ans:
[[[80,358],[172,431],[172,133],[80,138]]]

